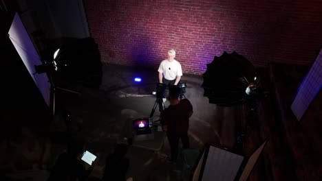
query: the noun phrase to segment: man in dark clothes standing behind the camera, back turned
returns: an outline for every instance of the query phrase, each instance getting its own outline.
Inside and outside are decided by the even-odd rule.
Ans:
[[[179,99],[180,88],[172,85],[169,88],[170,106],[161,114],[162,130],[167,132],[171,148],[171,161],[176,162],[178,144],[181,139],[184,149],[189,148],[189,117],[193,114],[193,106],[188,99]]]

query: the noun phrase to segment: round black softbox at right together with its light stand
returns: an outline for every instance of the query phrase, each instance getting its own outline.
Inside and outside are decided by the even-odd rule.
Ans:
[[[249,111],[246,115],[249,119],[246,123],[240,119],[239,130],[235,148],[241,152],[244,147],[244,138],[252,129],[256,115],[256,101],[266,97],[261,90],[261,84],[253,64],[244,56],[235,51],[215,56],[213,62],[206,64],[207,69],[202,77],[204,82],[204,96],[208,97],[209,103],[217,106],[237,106],[247,104]]]

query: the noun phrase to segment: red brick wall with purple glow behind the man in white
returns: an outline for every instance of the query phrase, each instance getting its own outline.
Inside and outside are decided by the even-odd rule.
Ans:
[[[257,67],[312,64],[322,43],[320,0],[85,0],[102,61],[158,67],[168,49],[184,73],[202,74],[224,51]]]

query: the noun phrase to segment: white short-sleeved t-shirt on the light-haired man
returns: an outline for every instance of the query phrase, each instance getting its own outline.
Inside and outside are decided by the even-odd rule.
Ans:
[[[177,60],[172,62],[163,60],[160,63],[158,72],[163,73],[164,78],[167,80],[175,80],[177,76],[182,76],[181,64]]]

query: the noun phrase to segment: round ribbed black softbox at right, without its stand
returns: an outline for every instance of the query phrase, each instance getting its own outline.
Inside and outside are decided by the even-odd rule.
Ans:
[[[204,96],[218,106],[242,104],[255,97],[258,77],[255,67],[244,56],[233,53],[215,56],[202,75]]]

